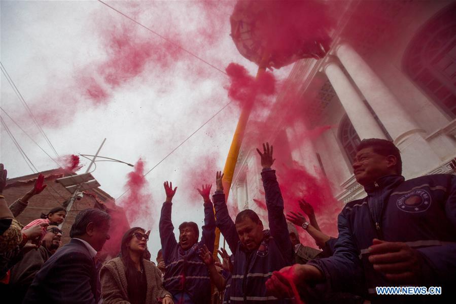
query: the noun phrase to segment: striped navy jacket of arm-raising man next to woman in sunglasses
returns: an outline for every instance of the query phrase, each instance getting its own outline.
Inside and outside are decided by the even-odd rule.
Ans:
[[[166,264],[163,287],[175,300],[183,296],[183,304],[210,303],[211,278],[204,262],[199,257],[203,245],[210,252],[214,251],[216,221],[212,202],[204,203],[204,226],[201,242],[184,251],[174,236],[171,222],[171,202],[164,202],[159,223],[161,248]]]

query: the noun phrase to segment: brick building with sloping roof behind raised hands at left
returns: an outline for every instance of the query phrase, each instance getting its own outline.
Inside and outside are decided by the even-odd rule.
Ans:
[[[26,225],[29,222],[40,218],[41,213],[46,213],[54,207],[62,206],[71,197],[69,193],[56,179],[74,175],[74,173],[64,172],[61,168],[40,172],[44,175],[45,184],[48,186],[38,195],[33,196],[27,208],[17,217],[17,220]],[[11,205],[16,199],[22,197],[27,191],[33,188],[34,182],[37,180],[40,173],[30,174],[26,176],[8,179],[7,185],[3,191],[8,205]],[[108,212],[116,223],[112,224],[112,228],[118,231],[126,231],[129,229],[129,223],[125,216],[122,207],[116,206],[114,198],[108,193],[99,188],[92,188],[83,191],[84,196],[80,200],[75,200],[72,210],[66,215],[63,223],[63,238],[62,245],[69,242],[69,230],[73,225],[76,215],[87,208],[97,208]],[[66,206],[66,205],[65,205]],[[106,243],[103,251],[109,256],[117,255],[120,248],[119,238],[112,238]]]

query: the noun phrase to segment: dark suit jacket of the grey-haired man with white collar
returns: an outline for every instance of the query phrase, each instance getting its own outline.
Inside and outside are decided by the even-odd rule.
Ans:
[[[96,271],[89,250],[72,239],[41,267],[23,303],[87,303],[96,299]]]

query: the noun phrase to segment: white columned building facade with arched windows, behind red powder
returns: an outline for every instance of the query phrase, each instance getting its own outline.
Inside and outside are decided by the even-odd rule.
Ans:
[[[318,86],[310,103],[304,97],[294,101],[303,104],[303,112],[313,112],[303,117],[318,119],[303,118],[284,128],[280,119],[286,118],[271,111],[277,129],[264,139],[291,147],[290,155],[276,157],[297,161],[309,172],[320,168],[341,204],[365,195],[352,168],[355,147],[363,139],[392,140],[401,151],[406,179],[450,173],[456,157],[456,3],[344,3],[329,54],[297,61],[288,79],[302,96]],[[366,10],[381,20],[357,28],[360,18],[369,18],[357,12]],[[345,40],[347,31],[356,32],[357,39]],[[288,107],[288,102],[286,91],[280,92],[274,107]],[[317,138],[298,136],[323,125],[331,128]],[[264,217],[253,201],[262,191],[261,166],[248,145],[241,147],[231,195],[239,210],[253,209]]]

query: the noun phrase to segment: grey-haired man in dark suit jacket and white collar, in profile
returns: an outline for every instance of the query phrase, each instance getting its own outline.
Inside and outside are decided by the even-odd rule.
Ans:
[[[94,257],[109,240],[110,216],[86,209],[75,218],[72,240],[49,258],[35,276],[24,303],[95,304],[97,275]]]

